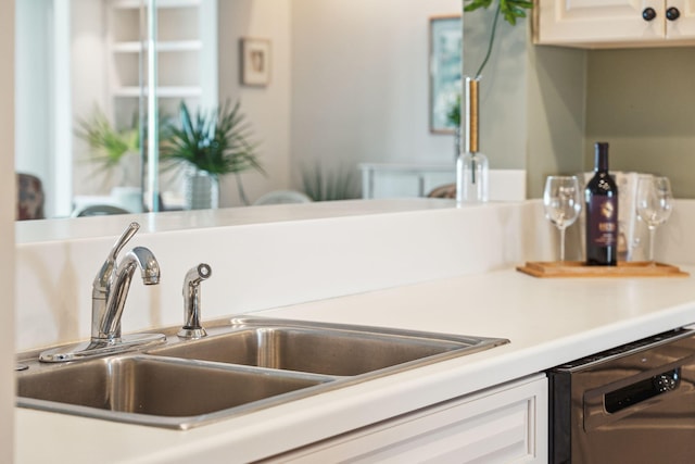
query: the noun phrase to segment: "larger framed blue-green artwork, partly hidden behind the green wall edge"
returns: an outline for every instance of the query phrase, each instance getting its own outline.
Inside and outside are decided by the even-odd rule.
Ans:
[[[463,40],[460,15],[430,17],[429,120],[434,134],[454,134],[447,115],[463,89]]]

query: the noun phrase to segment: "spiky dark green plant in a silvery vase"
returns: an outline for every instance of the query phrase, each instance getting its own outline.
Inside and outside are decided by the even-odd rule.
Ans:
[[[219,200],[219,177],[236,174],[239,197],[249,204],[240,173],[256,170],[255,143],[250,141],[251,127],[240,111],[240,103],[225,104],[191,115],[185,102],[179,105],[179,125],[161,146],[161,160],[186,170],[186,203],[188,209],[216,208]]]

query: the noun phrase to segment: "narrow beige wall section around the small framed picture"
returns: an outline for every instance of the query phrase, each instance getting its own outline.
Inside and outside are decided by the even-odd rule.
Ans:
[[[249,200],[289,185],[290,170],[290,1],[219,0],[219,99],[241,101],[260,141],[258,154],[266,175],[249,171],[241,175]],[[266,87],[240,84],[242,37],[270,40],[270,83]],[[240,205],[235,176],[220,186],[220,206]]]

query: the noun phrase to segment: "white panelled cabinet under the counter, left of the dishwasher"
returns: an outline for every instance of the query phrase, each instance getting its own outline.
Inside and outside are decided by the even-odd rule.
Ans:
[[[535,375],[276,456],[275,463],[545,463],[547,379]]]

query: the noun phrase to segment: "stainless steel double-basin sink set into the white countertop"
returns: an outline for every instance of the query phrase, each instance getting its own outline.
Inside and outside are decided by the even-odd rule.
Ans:
[[[381,327],[220,319],[208,336],[16,373],[17,405],[187,429],[508,342]]]

